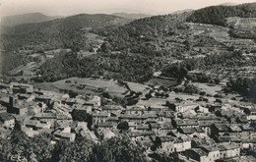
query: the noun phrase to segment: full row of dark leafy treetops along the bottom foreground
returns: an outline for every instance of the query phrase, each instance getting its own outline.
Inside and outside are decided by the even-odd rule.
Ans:
[[[74,142],[59,140],[52,143],[52,135],[28,137],[16,132],[11,139],[0,139],[0,161],[31,162],[84,161],[84,162],[142,162],[147,161],[145,149],[128,136],[120,135],[99,143],[78,137]]]

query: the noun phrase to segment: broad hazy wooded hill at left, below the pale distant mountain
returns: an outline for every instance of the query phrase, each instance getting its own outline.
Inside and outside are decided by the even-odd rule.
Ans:
[[[80,42],[82,41],[83,28],[87,30],[93,27],[123,25],[128,22],[130,20],[111,15],[81,14],[43,23],[5,27],[1,33],[1,41],[3,41],[2,43],[7,51],[36,45],[47,45],[46,48],[51,49],[70,47],[67,44],[73,44],[74,42],[83,47],[83,42]]]

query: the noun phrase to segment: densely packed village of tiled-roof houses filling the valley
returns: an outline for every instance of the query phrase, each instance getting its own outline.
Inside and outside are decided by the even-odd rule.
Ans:
[[[54,135],[52,144],[77,136],[98,143],[123,134],[141,143],[148,155],[177,152],[184,161],[202,162],[239,161],[256,148],[256,105],[248,102],[182,95],[155,86],[147,87],[152,91],[150,99],[142,93],[137,104],[123,107],[102,104],[96,95],[71,98],[25,83],[2,82],[0,87],[2,137],[21,129],[31,137]]]

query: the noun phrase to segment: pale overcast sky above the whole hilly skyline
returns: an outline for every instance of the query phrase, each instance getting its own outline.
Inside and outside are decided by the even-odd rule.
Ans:
[[[248,3],[256,0],[227,0]],[[49,16],[115,12],[167,14],[184,9],[219,5],[224,0],[0,0],[0,16],[39,12]]]

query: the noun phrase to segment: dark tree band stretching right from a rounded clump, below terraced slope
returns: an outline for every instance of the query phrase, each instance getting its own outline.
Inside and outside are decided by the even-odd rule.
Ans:
[[[239,51],[225,52],[222,54],[207,55],[203,58],[185,59],[180,63],[167,65],[162,69],[161,75],[164,77],[182,80],[187,78],[189,81],[209,82],[212,78],[206,74],[189,74],[193,70],[213,70],[221,67],[234,67],[253,65],[255,60],[245,61]],[[219,79],[215,79],[215,83],[219,83]]]

